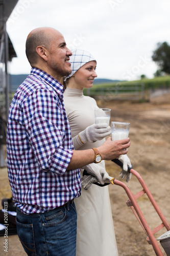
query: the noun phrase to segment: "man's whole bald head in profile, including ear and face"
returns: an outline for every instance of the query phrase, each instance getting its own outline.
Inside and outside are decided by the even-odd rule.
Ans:
[[[72,53],[63,35],[54,28],[32,30],[26,41],[26,55],[33,68],[43,70],[58,81],[71,73],[69,56]]]

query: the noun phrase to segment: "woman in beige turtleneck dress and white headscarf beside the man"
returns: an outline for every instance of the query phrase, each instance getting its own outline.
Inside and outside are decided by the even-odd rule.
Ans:
[[[93,142],[92,138],[97,132],[95,129],[93,130],[93,127],[94,109],[98,106],[93,98],[83,95],[83,89],[91,88],[93,80],[97,76],[95,73],[96,60],[90,53],[76,49],[72,51],[70,63],[72,73],[64,79],[66,83],[64,105],[71,127],[71,137],[76,149],[85,150],[98,147],[105,141],[102,139]],[[86,129],[88,126],[90,129]],[[102,138],[110,134],[110,129],[106,124],[99,129],[104,129]],[[89,165],[89,168],[105,169],[105,163],[104,161],[98,164],[94,163]],[[83,169],[81,169],[81,176],[82,173]],[[75,199],[75,204],[78,213],[76,255],[118,255],[108,186],[100,187],[92,184],[88,190],[82,188],[82,194]]]

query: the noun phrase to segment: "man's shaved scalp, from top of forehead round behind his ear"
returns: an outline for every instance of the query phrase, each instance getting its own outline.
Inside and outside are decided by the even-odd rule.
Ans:
[[[32,67],[36,65],[38,59],[36,48],[43,46],[49,50],[57,34],[61,35],[58,30],[49,27],[36,28],[29,33],[26,41],[26,55]]]

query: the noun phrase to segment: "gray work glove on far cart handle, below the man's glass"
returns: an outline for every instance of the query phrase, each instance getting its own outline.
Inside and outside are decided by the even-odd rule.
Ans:
[[[119,174],[119,177],[121,177],[121,179],[124,179],[125,176],[127,176],[126,181],[129,182],[130,179],[131,179],[132,174],[130,172],[128,172],[128,165],[130,167],[132,166],[131,161],[130,161],[130,159],[127,155],[120,155],[118,157],[118,160],[123,163],[123,168],[122,168],[122,171]]]

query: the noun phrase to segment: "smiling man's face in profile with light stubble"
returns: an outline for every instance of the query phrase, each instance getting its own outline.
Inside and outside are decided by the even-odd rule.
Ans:
[[[71,73],[69,56],[71,56],[72,53],[66,47],[65,39],[59,31],[56,32],[53,38],[48,51],[47,65],[50,66],[52,76],[59,79]]]

